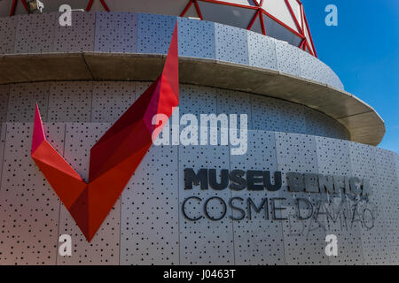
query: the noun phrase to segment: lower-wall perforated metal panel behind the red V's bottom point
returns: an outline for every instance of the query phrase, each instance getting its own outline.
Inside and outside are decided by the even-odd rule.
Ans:
[[[88,180],[90,149],[111,126],[100,123],[66,124],[66,160],[84,180]],[[119,264],[121,201],[118,200],[93,240],[88,243],[62,205],[59,216],[59,235],[72,237],[72,256],[58,256],[57,264]]]

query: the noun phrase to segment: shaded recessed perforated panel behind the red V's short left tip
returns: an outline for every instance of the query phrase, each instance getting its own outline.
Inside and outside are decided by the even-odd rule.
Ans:
[[[35,103],[39,105],[43,121],[47,121],[50,82],[20,83],[10,86],[8,122],[32,122]]]

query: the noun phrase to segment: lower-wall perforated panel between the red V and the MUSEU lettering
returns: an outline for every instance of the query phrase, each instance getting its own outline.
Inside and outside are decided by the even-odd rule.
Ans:
[[[125,188],[121,264],[179,264],[177,153],[152,146]]]

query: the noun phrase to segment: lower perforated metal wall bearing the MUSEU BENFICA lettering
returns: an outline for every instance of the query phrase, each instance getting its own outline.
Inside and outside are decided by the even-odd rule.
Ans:
[[[84,107],[76,101],[74,113],[84,112]],[[60,116],[66,115],[62,111],[66,108],[59,103]],[[20,108],[20,115],[22,111]],[[74,115],[62,119],[71,117]],[[90,147],[109,126],[111,123],[45,123],[51,144],[85,178]],[[20,122],[3,123],[1,128],[0,264],[399,264],[399,156],[393,152],[355,142],[261,130],[248,132],[246,156],[231,156],[229,146],[153,146],[88,243],[30,157],[32,129],[33,123]],[[185,190],[186,168],[280,171],[283,187],[278,192]],[[309,200],[315,208],[318,201],[331,200],[323,210],[333,213],[342,196],[288,192],[287,172],[367,178],[372,195],[369,202],[358,203],[360,214],[355,214],[355,221],[350,219],[356,203],[344,203],[335,221],[325,214],[317,218],[320,222],[313,218],[299,221],[294,197]],[[182,205],[192,195],[200,197],[201,204],[213,196],[225,203],[232,197],[244,202],[250,197],[256,205],[265,197],[285,198],[278,207],[286,208],[279,216],[286,220],[267,219],[253,210],[251,219],[233,221],[229,217],[237,217],[239,211],[228,208],[222,220],[190,221],[184,218]],[[191,217],[202,213],[199,203],[186,204]],[[246,203],[236,205],[246,207]],[[210,204],[213,217],[221,210],[220,203]],[[302,208],[301,213],[306,215],[308,210]],[[329,233],[338,237],[339,256],[325,256],[325,234]],[[61,234],[72,236],[72,256],[59,256]]]

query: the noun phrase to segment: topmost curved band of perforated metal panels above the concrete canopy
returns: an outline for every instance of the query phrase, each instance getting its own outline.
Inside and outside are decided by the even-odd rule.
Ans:
[[[174,16],[132,12],[74,12],[72,27],[59,13],[0,19],[0,54],[123,52],[166,54]],[[331,68],[309,53],[237,27],[177,17],[179,55],[276,70],[343,89]],[[194,40],[193,40],[194,39]]]

